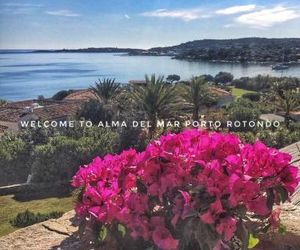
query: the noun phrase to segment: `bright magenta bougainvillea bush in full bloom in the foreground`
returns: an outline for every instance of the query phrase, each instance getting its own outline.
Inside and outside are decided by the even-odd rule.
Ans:
[[[145,151],[95,158],[79,169],[76,213],[119,249],[240,249],[280,228],[280,204],[299,179],[291,156],[233,134],[186,130]],[[127,247],[127,248],[126,248]],[[144,247],[144,248],[143,248]]]

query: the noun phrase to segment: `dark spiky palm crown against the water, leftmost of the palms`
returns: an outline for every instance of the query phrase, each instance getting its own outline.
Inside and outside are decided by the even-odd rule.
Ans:
[[[100,101],[108,104],[116,99],[121,91],[120,86],[121,84],[116,83],[115,79],[104,78],[103,80],[98,79],[98,82],[95,82],[95,86],[91,86],[90,90]]]

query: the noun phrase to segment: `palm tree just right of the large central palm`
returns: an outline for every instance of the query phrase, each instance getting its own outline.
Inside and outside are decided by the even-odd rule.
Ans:
[[[193,77],[188,84],[182,87],[181,96],[187,107],[192,109],[193,120],[198,121],[200,108],[208,96],[208,87],[205,79]]]

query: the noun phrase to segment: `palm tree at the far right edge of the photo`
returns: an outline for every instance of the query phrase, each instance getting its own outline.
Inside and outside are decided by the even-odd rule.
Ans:
[[[277,82],[273,86],[273,91],[276,94],[276,105],[284,111],[284,120],[286,127],[290,125],[290,113],[300,107],[299,93],[296,89],[291,88],[288,82]]]

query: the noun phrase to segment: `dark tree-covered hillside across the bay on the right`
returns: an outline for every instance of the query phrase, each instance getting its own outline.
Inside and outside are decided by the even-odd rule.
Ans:
[[[145,52],[143,52],[145,54]],[[300,38],[204,39],[169,47],[156,47],[148,55],[172,55],[176,59],[229,62],[298,62]]]

